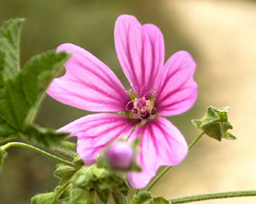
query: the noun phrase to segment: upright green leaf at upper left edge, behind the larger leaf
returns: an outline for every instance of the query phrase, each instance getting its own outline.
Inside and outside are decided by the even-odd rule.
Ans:
[[[20,26],[24,19],[5,21],[0,28],[0,88],[20,69]]]

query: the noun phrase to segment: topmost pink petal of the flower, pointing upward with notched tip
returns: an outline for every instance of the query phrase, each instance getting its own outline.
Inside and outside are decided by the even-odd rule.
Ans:
[[[140,97],[153,91],[165,58],[160,29],[152,24],[141,26],[131,15],[120,15],[114,28],[114,42],[131,87]]]

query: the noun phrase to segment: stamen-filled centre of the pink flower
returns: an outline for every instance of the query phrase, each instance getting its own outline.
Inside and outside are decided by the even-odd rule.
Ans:
[[[127,116],[146,120],[154,115],[154,93],[147,97],[149,99],[146,99],[146,97],[138,98],[137,94],[132,91],[130,91],[129,94],[131,101],[126,105]]]

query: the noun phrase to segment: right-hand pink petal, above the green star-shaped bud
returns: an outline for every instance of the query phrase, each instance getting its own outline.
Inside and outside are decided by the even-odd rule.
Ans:
[[[194,59],[186,51],[179,51],[167,60],[165,74],[155,97],[160,115],[175,116],[188,111],[195,104],[195,67]]]

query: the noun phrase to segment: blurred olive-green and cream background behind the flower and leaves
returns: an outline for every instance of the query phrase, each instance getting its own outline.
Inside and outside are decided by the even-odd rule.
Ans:
[[[197,63],[199,98],[190,111],[170,120],[190,142],[200,133],[190,120],[201,118],[207,105],[230,106],[236,141],[203,137],[189,156],[154,187],[166,198],[227,190],[256,189],[256,2],[255,1],[119,1],[1,0],[0,25],[25,17],[21,64],[32,55],[71,42],[107,64],[129,88],[114,50],[113,26],[119,14],[160,27],[166,59],[188,50]],[[38,114],[44,127],[59,128],[88,112],[61,105],[49,97]],[[29,203],[32,195],[54,189],[55,162],[30,150],[9,150],[0,173],[0,203]],[[198,203],[256,203],[238,198]]]

